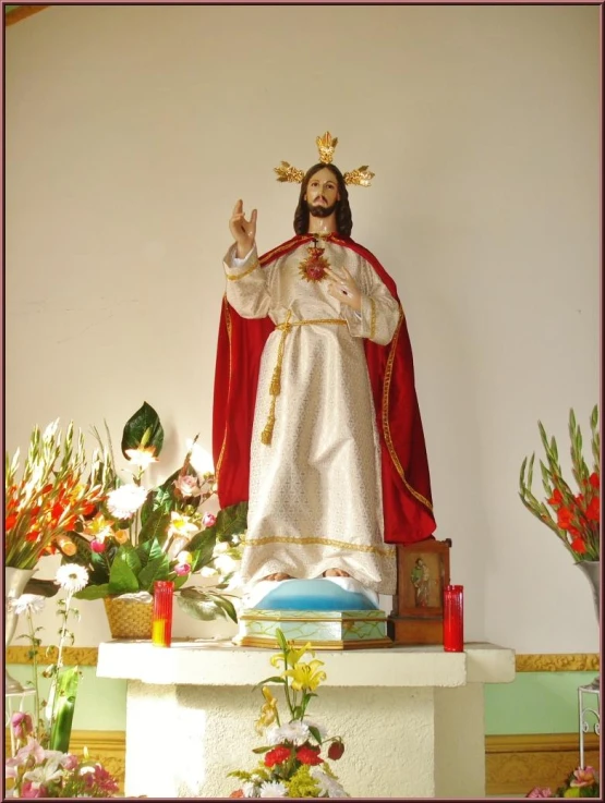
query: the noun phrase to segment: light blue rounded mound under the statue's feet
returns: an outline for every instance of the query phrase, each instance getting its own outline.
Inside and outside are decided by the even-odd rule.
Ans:
[[[254,606],[259,610],[376,610],[359,592],[329,580],[283,580]]]

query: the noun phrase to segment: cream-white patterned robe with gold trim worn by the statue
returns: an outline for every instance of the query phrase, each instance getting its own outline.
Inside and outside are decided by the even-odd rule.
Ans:
[[[294,324],[271,332],[261,360],[242,579],[251,585],[275,572],[311,579],[342,569],[366,588],[395,594],[396,550],[384,544],[380,446],[363,338],[389,343],[400,308],[366,259],[320,241],[330,266],[344,265],[362,292],[361,315],[341,304],[328,294],[327,279],[302,275],[310,245],[264,268],[255,251],[241,260],[233,246],[225,258],[227,300],[242,317]],[[261,435],[280,344],[281,389],[267,446]]]

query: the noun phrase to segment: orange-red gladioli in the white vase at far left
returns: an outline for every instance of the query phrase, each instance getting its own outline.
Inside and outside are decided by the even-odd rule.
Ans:
[[[17,479],[20,450],[5,455],[4,564],[34,569],[57,548],[73,553],[65,533],[89,513],[102,496],[102,487],[86,478],[84,436],[74,438],[73,422],[63,431],[59,419],[44,433],[36,426],[23,474]]]

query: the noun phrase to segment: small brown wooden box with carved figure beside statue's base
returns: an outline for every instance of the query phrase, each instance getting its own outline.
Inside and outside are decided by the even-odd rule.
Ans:
[[[449,538],[397,547],[397,594],[389,617],[395,644],[443,644],[450,547]]]

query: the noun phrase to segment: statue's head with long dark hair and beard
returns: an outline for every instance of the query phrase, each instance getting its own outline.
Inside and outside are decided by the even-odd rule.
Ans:
[[[302,180],[294,212],[294,231],[297,234],[306,234],[310,215],[327,218],[332,212],[336,215],[338,234],[351,236],[353,219],[344,178],[335,165],[319,162],[310,168]]]

